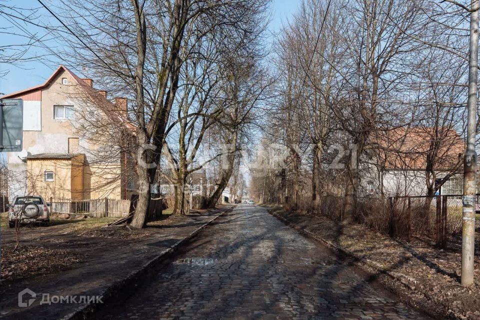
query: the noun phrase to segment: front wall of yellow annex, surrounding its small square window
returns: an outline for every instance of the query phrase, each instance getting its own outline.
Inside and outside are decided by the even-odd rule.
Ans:
[[[53,172],[53,181],[45,181],[45,171]],[[69,159],[28,159],[27,190],[30,195],[71,198],[71,161]]]

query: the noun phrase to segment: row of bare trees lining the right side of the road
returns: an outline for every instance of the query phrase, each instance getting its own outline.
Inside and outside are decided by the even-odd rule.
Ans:
[[[275,47],[251,193],[316,209],[341,195],[345,221],[370,193],[430,203],[461,171],[467,13],[446,1],[303,0]]]

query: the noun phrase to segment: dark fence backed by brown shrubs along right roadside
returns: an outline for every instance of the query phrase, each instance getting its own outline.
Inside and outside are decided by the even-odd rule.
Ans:
[[[476,203],[479,203],[480,194],[476,198]],[[322,196],[318,203],[313,203],[311,197],[299,197],[296,207],[341,221],[345,214],[345,198],[327,195]],[[461,234],[461,194],[364,196],[356,198],[355,208],[352,218],[356,222],[392,237],[433,239],[438,248],[446,248],[448,241],[457,241]],[[480,205],[476,210],[480,211]]]

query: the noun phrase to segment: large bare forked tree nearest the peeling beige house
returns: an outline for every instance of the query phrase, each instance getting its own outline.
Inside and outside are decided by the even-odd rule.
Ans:
[[[62,3],[62,20],[73,34],[68,37],[72,61],[108,84],[109,92],[121,92],[132,101],[135,143],[128,152],[139,193],[133,227],[145,223],[150,184],[182,85],[182,65],[190,59],[195,42],[209,36],[219,50],[238,50],[257,36],[266,4],[267,0]]]

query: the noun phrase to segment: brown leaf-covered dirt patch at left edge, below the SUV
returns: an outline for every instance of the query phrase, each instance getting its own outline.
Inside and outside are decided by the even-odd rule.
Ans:
[[[13,245],[1,248],[1,278],[11,280],[48,272],[57,272],[81,260],[81,254],[71,250]]]

